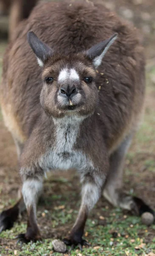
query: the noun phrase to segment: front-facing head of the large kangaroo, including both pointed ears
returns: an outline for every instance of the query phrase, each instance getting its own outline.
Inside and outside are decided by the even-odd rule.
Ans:
[[[84,52],[63,55],[28,32],[28,43],[42,67],[40,103],[48,115],[85,117],[94,113],[98,103],[96,68],[116,38],[114,34]]]

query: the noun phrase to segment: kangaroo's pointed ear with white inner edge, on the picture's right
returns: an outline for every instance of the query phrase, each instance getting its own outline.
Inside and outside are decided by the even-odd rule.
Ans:
[[[102,41],[99,44],[96,44],[95,46],[91,47],[89,50],[87,50],[85,53],[86,55],[92,59],[94,66],[97,68],[101,64],[102,58],[104,57],[104,54],[109,49],[110,45],[113,44],[113,42],[118,37],[118,34],[115,33],[112,35],[109,39]]]

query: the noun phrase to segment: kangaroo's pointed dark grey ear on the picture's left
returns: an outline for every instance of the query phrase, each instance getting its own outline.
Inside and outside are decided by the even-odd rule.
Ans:
[[[34,51],[37,61],[40,67],[44,66],[44,62],[48,57],[54,54],[54,50],[51,49],[47,44],[44,44],[33,31],[29,31],[27,34],[28,44]]]

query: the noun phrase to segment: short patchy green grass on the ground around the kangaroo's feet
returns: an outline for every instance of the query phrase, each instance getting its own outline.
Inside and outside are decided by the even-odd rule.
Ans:
[[[103,213],[107,212],[108,209],[101,209]],[[62,214],[62,210],[53,213],[59,220],[55,222],[56,225],[68,224],[68,210],[65,210]],[[76,212],[73,211],[72,215]],[[49,213],[50,214],[50,213]],[[70,216],[70,214],[69,214]],[[146,226],[141,224],[141,220],[138,217],[123,215],[120,209],[114,209],[110,211],[108,217],[104,218],[106,225],[100,224],[99,216],[95,219],[88,219],[85,239],[88,239],[91,246],[84,248],[82,252],[75,249],[71,252],[71,255],[87,255],[87,256],[136,256],[136,255],[146,255],[150,251],[155,251],[155,238],[152,239],[151,243],[146,243],[144,240],[149,237],[150,233]],[[104,217],[100,216],[100,218]],[[14,236],[20,232],[24,232],[26,224],[15,224],[12,230],[3,232],[1,237],[5,239],[13,239]],[[141,233],[139,233],[141,230]],[[155,232],[155,225],[152,226],[152,230]],[[115,232],[116,237],[113,236]],[[17,250],[17,256],[20,255],[31,255],[31,256],[46,256],[52,255],[57,256],[60,253],[55,253],[53,251],[53,246],[51,243],[52,239],[45,239],[43,244],[40,242],[29,243],[23,245],[20,251]],[[1,248],[1,254],[14,255],[14,251],[8,246]],[[67,254],[67,253],[66,253]]]

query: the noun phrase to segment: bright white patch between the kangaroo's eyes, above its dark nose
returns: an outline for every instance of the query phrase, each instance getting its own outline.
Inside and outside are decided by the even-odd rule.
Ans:
[[[73,68],[71,68],[71,69],[65,68],[60,71],[58,81],[61,82],[61,81],[65,81],[67,79],[79,80],[80,78],[79,78],[79,75],[76,72],[76,70],[74,70]]]

